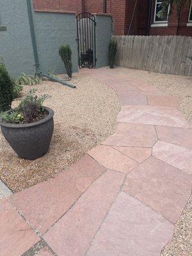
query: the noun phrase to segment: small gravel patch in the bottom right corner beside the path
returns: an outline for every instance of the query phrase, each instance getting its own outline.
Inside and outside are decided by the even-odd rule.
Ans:
[[[175,225],[172,241],[161,256],[190,256],[192,253],[192,196]]]

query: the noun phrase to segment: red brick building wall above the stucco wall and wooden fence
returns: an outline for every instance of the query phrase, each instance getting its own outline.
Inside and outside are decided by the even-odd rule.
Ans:
[[[102,13],[102,0],[33,0],[35,9],[53,9],[74,11],[76,13]],[[111,13],[115,35],[147,35],[148,0],[107,0],[107,13]],[[154,22],[154,4],[152,4],[151,23]],[[134,15],[133,15],[134,13]],[[192,27],[186,26],[189,10],[182,7],[178,17],[174,7],[168,18],[167,27],[152,27],[150,35],[186,35],[192,36]],[[132,22],[131,22],[132,19]],[[130,26],[131,24],[131,26]]]

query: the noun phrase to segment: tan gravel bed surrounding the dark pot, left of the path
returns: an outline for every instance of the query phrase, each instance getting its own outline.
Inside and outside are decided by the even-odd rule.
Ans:
[[[51,81],[24,86],[24,92],[38,88],[39,94],[52,96],[45,106],[55,112],[54,134],[49,152],[40,159],[28,161],[17,157],[0,132],[0,178],[13,192],[56,177],[115,132],[120,111],[116,93],[93,78],[77,74],[70,83],[77,88]],[[18,100],[13,102],[13,106],[18,103]]]

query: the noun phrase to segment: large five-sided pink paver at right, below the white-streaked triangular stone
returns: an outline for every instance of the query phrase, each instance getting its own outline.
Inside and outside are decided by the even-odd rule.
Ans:
[[[124,191],[175,223],[191,195],[190,175],[154,157],[128,173]]]

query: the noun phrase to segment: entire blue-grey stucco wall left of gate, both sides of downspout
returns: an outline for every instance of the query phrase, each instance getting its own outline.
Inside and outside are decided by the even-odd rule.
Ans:
[[[6,31],[0,31],[0,56],[12,76],[35,74],[33,47],[26,0],[1,0],[0,12]],[[74,14],[33,12],[36,43],[41,69],[64,73],[58,47],[72,48],[73,71],[77,72],[76,19]]]

